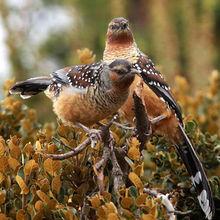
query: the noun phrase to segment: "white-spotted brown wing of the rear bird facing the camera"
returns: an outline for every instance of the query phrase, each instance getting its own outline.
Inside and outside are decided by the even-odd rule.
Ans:
[[[151,59],[145,54],[140,53],[140,57],[134,64],[134,68],[140,72],[144,82],[154,91],[154,93],[162,98],[168,106],[174,110],[179,122],[182,124],[181,108],[173,97],[170,87],[164,80],[162,74],[155,69]]]

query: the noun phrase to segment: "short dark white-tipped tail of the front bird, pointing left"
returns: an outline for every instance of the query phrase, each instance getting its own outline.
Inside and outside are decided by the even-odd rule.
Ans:
[[[23,99],[30,98],[44,90],[51,84],[50,77],[35,77],[25,81],[17,82],[9,90],[10,94],[19,94]]]

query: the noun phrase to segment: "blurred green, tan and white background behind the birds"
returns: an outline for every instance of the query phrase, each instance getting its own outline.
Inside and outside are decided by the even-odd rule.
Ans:
[[[1,0],[1,84],[77,64],[77,49],[101,59],[107,25],[119,16],[171,85],[182,75],[194,92],[220,69],[219,0]],[[42,120],[54,117],[43,95],[25,102],[40,108]]]

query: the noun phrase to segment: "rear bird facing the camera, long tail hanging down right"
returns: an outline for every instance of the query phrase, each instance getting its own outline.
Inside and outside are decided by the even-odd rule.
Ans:
[[[215,208],[211,188],[202,164],[184,131],[181,109],[162,74],[155,69],[151,59],[137,47],[129,23],[124,18],[115,18],[108,26],[103,61],[111,63],[114,59],[126,59],[138,70],[139,74],[135,76],[130,89],[134,91],[138,82],[145,82],[142,98],[147,114],[150,118],[166,116],[153,125],[153,131],[165,136],[175,145],[196,188],[200,206],[206,218],[212,219]],[[130,122],[134,118],[133,109],[131,92],[120,109]]]

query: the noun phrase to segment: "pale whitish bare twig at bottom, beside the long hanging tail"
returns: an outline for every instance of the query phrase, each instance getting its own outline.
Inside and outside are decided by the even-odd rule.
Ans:
[[[175,220],[176,216],[175,216],[175,209],[173,207],[173,204],[170,202],[169,200],[169,194],[162,194],[162,193],[158,193],[156,190],[152,190],[152,189],[147,189],[144,188],[144,192],[148,193],[156,198],[161,199],[162,204],[166,207],[167,209],[167,213],[169,215],[169,220]]]

